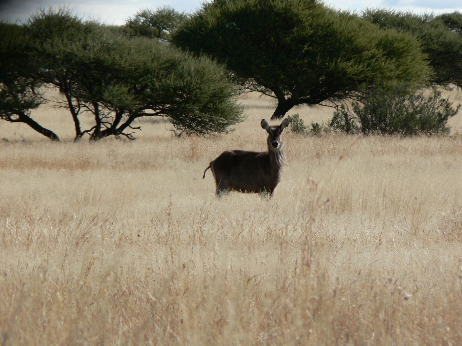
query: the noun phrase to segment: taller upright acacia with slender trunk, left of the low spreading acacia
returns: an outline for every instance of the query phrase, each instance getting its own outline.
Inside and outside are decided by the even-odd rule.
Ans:
[[[68,8],[38,10],[29,18],[25,29],[34,42],[30,59],[34,78],[58,88],[65,96],[66,102],[61,106],[72,114],[76,140],[91,131],[96,135],[101,127],[98,95],[103,93],[104,82],[112,78],[111,72],[120,70],[117,64],[110,66],[118,58],[115,49],[110,48],[111,43],[113,46],[118,43],[115,34],[95,22],[83,22]],[[106,81],[98,81],[102,75]],[[96,125],[82,130],[79,115],[89,112],[94,114]]]

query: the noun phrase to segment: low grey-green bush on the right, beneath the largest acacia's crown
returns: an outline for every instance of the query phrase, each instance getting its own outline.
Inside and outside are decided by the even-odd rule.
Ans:
[[[331,128],[347,133],[380,134],[444,134],[449,132],[448,119],[459,110],[452,102],[441,97],[441,91],[432,89],[407,93],[407,89],[369,88],[355,101],[352,110],[341,107],[330,121]],[[359,123],[359,125],[357,124]]]

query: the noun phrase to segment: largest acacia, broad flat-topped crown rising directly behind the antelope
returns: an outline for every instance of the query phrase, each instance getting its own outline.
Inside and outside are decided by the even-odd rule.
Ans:
[[[215,0],[172,41],[226,64],[247,90],[277,99],[272,119],[299,104],[344,99],[363,84],[412,84],[430,74],[413,37],[316,0]]]

